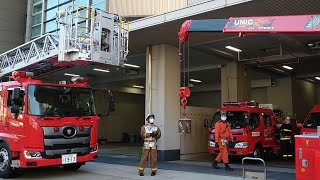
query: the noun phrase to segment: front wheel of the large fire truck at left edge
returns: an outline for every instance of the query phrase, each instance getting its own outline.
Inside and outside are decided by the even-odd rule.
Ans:
[[[6,143],[0,143],[0,178],[8,179],[15,176],[15,169],[11,167],[12,152]]]

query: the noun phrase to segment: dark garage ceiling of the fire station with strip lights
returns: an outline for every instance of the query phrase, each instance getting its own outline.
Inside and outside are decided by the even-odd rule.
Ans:
[[[130,34],[129,64],[138,65],[131,68],[138,74],[124,73],[125,69],[113,69],[106,66],[109,73],[93,71],[92,66],[68,69],[55,74],[56,79],[66,79],[64,73],[89,76],[94,85],[133,86],[145,84],[145,49],[153,44],[170,44],[178,47],[178,32],[181,24],[187,19],[227,19],[246,16],[282,16],[318,14],[319,0],[253,0],[242,4],[202,13],[157,26],[152,26]],[[253,78],[279,77],[293,75],[302,79],[313,79],[320,76],[320,49],[308,47],[309,43],[320,41],[320,35],[248,35],[243,38],[234,34],[193,33],[190,41],[190,66],[198,68],[190,73],[191,78],[201,79],[203,85],[220,83],[220,68],[215,65],[237,61],[237,53],[225,46],[234,46],[242,50],[240,61],[248,64],[253,71]],[[281,55],[282,54],[282,55]],[[262,63],[258,64],[257,61]],[[271,64],[271,65],[270,65]],[[283,68],[292,67],[292,70]],[[126,69],[128,69],[127,67]],[[183,74],[182,74],[183,76]],[[46,77],[45,77],[46,78]],[[317,81],[314,81],[317,82]]]

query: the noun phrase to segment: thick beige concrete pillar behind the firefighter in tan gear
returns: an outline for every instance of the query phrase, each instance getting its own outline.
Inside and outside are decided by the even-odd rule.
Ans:
[[[178,48],[156,45],[146,53],[146,111],[155,114],[162,137],[158,141],[158,159],[180,159],[180,61]]]

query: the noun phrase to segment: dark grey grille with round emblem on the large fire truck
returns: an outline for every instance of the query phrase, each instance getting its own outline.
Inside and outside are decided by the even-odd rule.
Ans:
[[[77,126],[43,127],[44,153],[43,158],[60,158],[62,154],[74,153],[84,156],[90,153],[91,126],[85,126],[83,131]]]

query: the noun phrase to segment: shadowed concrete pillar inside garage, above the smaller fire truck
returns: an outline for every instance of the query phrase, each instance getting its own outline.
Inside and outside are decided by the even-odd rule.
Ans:
[[[221,68],[221,103],[250,100],[250,79],[244,65],[228,63]]]

